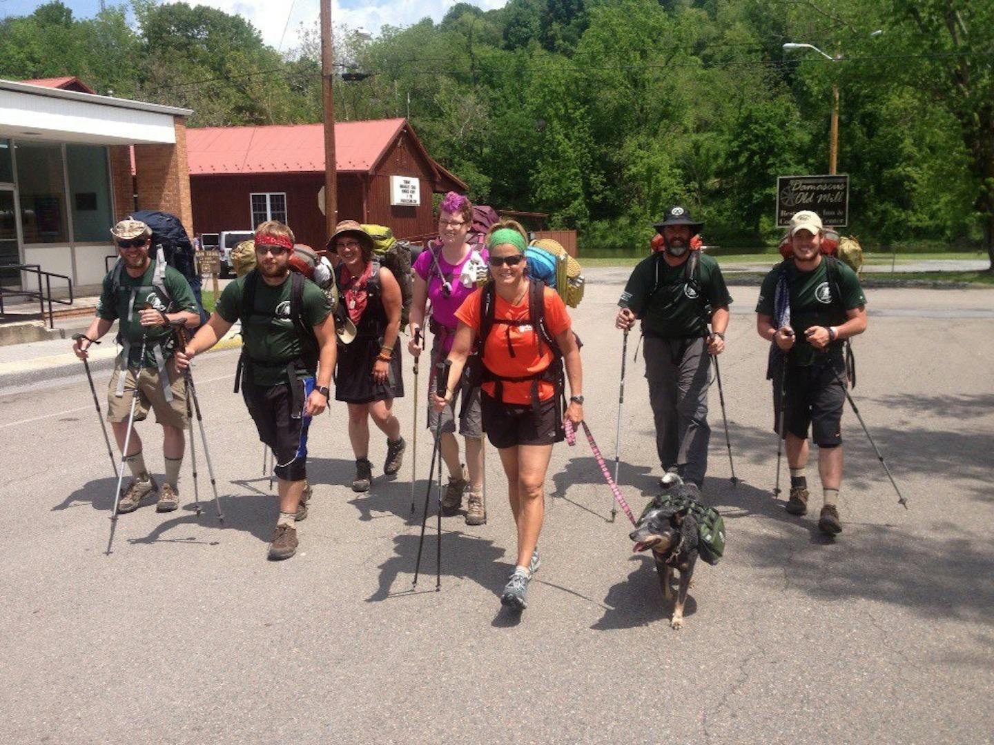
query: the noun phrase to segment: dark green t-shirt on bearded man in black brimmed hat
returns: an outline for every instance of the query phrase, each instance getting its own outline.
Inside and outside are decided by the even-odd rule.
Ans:
[[[661,252],[653,253],[632,271],[618,305],[642,319],[645,334],[663,338],[701,336],[712,311],[730,305],[732,296],[718,262],[708,254],[701,253],[698,261],[700,289],[688,281],[686,273],[687,261],[670,266]]]

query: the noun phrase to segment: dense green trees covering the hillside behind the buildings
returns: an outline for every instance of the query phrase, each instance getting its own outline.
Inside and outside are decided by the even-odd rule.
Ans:
[[[59,2],[8,18],[0,75],[78,74],[190,106],[193,126],[320,119],[314,30],[280,56],[218,10],[133,11],[136,29],[123,9],[77,21]],[[837,84],[851,230],[994,250],[994,3],[510,0],[376,38],[336,33],[340,70],[369,74],[336,80],[340,119],[410,105],[475,201],[547,212],[588,248],[640,250],[672,202],[711,241],[774,240],[775,177],[827,172]]]

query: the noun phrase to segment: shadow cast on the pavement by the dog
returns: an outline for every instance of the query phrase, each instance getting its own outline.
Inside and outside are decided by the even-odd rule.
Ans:
[[[668,622],[673,615],[674,599],[663,600],[663,591],[656,576],[656,562],[652,556],[643,553],[632,554],[629,561],[635,568],[628,576],[612,585],[604,597],[606,610],[591,629],[610,631],[648,626],[656,622]],[[695,571],[695,577],[697,572]],[[684,618],[697,612],[697,601],[693,594],[687,595],[684,605]]]

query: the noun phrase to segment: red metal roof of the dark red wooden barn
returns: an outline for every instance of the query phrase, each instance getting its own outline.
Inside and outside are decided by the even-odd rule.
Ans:
[[[335,123],[339,171],[369,173],[404,128],[404,119]],[[190,175],[324,171],[324,126],[202,127],[187,130]]]

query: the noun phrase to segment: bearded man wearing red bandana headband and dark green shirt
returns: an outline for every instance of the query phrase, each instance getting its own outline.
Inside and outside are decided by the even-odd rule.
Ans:
[[[307,428],[324,411],[335,369],[335,321],[321,289],[290,271],[293,232],[269,221],[255,228],[255,268],[225,288],[211,319],[185,352],[184,369],[242,321],[242,394],[259,439],[276,457],[279,519],[269,545],[270,559],[296,552],[296,522],[307,517],[301,501],[307,478]],[[294,286],[302,283],[300,309],[291,309]]]

